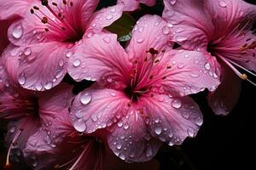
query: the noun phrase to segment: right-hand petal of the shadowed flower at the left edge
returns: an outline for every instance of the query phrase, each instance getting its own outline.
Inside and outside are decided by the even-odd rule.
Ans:
[[[73,99],[72,94],[73,86],[67,83],[61,83],[59,86],[50,89],[44,93],[38,94],[39,116],[41,122],[44,124],[51,124],[55,117],[61,115],[61,119],[67,120],[69,111],[68,108],[71,105]],[[61,130],[56,129],[56,131]],[[56,132],[57,133],[57,132]]]

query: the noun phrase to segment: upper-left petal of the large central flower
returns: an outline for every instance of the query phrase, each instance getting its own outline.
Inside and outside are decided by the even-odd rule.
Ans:
[[[67,71],[76,81],[125,82],[130,77],[129,59],[117,36],[99,33],[84,38],[69,59]],[[115,80],[115,81],[113,81]]]

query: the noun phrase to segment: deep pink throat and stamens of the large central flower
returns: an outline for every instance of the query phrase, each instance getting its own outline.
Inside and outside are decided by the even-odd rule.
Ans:
[[[153,88],[159,88],[159,82],[170,76],[171,65],[160,64],[164,53],[164,50],[159,52],[154,48],[149,48],[142,59],[133,61],[130,83],[125,88],[126,96],[132,101],[136,102],[142,95],[153,96]]]

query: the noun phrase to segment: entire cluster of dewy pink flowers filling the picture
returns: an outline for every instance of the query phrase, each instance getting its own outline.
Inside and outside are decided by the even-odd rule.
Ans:
[[[256,85],[255,5],[164,0],[162,17],[143,15],[122,46],[106,27],[155,0],[98,3],[0,0],[6,168],[157,169],[163,143],[182,144],[201,127],[189,94],[207,89],[212,111],[227,115],[241,80]],[[67,75],[93,85],[73,93]]]

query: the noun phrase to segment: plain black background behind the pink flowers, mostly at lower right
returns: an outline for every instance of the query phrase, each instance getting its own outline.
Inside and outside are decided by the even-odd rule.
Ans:
[[[248,3],[256,3],[254,0]],[[114,4],[113,0],[102,0],[98,8]],[[162,3],[154,8],[142,6],[133,13],[135,18],[142,14],[161,14]],[[255,82],[256,78],[254,79]],[[232,86],[232,84],[230,84]],[[194,139],[186,139],[183,145],[169,147],[164,145],[155,158],[160,161],[161,170],[222,170],[256,169],[256,87],[242,82],[240,99],[229,116],[215,116],[207,106],[206,93],[194,98],[201,106],[204,123]],[[0,127],[4,126],[4,123]],[[4,161],[3,130],[0,132],[0,160]],[[1,167],[0,167],[1,169]]]

